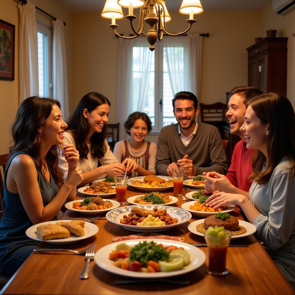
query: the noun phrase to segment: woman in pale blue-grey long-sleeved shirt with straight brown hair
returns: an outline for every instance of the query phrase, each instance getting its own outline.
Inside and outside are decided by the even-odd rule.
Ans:
[[[249,199],[215,191],[207,206],[239,205],[257,228],[276,266],[295,288],[295,114],[290,101],[276,93],[250,101],[240,128],[252,154]]]

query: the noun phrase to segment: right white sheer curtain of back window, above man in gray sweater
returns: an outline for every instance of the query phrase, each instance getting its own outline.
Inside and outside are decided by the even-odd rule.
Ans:
[[[169,80],[174,94],[190,91],[197,98],[200,97],[202,40],[203,37],[199,34],[188,34],[179,38],[163,37]]]

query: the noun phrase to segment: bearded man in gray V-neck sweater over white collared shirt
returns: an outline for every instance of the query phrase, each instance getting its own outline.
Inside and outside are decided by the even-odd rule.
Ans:
[[[178,123],[160,131],[156,154],[158,175],[172,176],[172,168],[184,168],[185,176],[209,171],[226,173],[226,156],[218,129],[195,119],[199,114],[196,96],[187,91],[178,92],[172,105]]]

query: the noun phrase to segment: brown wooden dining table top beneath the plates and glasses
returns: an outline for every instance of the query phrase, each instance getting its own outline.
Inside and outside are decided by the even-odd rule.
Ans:
[[[173,190],[164,191],[173,196]],[[183,193],[188,190],[183,188]],[[127,198],[144,194],[128,186]],[[115,200],[116,195],[109,197]],[[178,197],[178,202],[171,205],[181,207],[184,201]],[[124,204],[122,206],[128,206]],[[231,215],[237,219],[245,220],[236,208]],[[64,217],[85,217],[71,210],[66,210]],[[92,215],[91,215],[92,216]],[[98,215],[101,218],[105,214]],[[189,222],[204,217],[192,215]],[[170,230],[161,232],[160,235],[183,237],[185,242],[204,243],[204,237],[195,235],[188,230],[189,222],[180,224]],[[94,222],[99,231],[92,237],[74,244],[53,245],[40,242],[38,248],[70,248],[81,250],[88,244],[96,243],[95,250],[112,244],[112,238],[118,236],[134,235],[136,232],[124,229],[107,220]],[[230,273],[226,276],[212,276],[206,273],[208,266],[208,249],[200,247],[206,254],[205,263],[190,273],[169,278],[173,282],[159,279],[145,279],[139,282],[133,278],[123,277],[110,273],[90,263],[90,277],[86,280],[79,279],[79,274],[85,265],[85,255],[76,255],[70,252],[34,252],[23,263],[11,280],[2,289],[1,294],[130,294],[139,295],[153,292],[153,294],[294,294],[294,290],[283,278],[280,271],[266,253],[266,250],[254,235],[242,237],[231,241],[231,245],[248,245],[249,247],[231,247],[227,252],[227,267]],[[127,281],[127,283],[118,283]],[[181,284],[188,281],[188,284]],[[179,282],[179,283],[178,283]]]

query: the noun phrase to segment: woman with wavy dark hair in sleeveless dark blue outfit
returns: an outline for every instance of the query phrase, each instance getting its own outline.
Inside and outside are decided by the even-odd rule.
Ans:
[[[83,180],[79,154],[64,145],[68,176],[58,167],[57,146],[63,144],[60,103],[36,96],[25,99],[12,125],[10,159],[4,174],[3,215],[0,220],[0,269],[13,274],[37,246],[27,228],[51,221],[65,201],[76,196]]]

